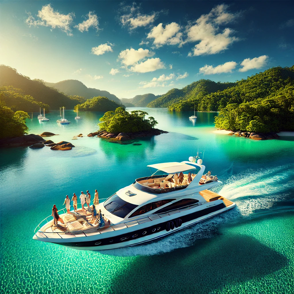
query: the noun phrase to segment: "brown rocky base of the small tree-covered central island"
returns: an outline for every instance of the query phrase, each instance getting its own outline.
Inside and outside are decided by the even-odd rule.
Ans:
[[[108,133],[104,130],[100,130],[100,131],[88,134],[88,137],[97,136],[99,138],[110,139],[113,141],[128,141],[138,137],[151,137],[151,136],[157,136],[163,133],[168,133],[168,132],[159,130],[156,128],[153,128],[149,131],[141,131],[137,133]]]

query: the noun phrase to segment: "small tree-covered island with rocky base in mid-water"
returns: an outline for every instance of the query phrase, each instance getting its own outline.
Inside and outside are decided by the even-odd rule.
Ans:
[[[88,137],[100,137],[113,141],[128,141],[138,137],[147,137],[168,133],[154,128],[158,123],[153,116],[145,118],[147,112],[134,110],[129,113],[123,107],[107,111],[99,123],[100,130],[88,134]]]

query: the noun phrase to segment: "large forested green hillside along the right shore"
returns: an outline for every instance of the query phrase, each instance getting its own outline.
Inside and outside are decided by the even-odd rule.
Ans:
[[[294,66],[274,67],[235,83],[194,82],[172,89],[149,107],[170,111],[219,111],[215,126],[231,131],[294,130]]]

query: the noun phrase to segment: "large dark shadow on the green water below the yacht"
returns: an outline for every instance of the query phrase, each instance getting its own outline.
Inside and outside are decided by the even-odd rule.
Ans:
[[[111,293],[214,293],[288,265],[282,254],[245,235],[219,235],[163,255],[139,256]]]

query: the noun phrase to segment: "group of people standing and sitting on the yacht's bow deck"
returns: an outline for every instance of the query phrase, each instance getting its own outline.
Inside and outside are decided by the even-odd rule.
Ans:
[[[92,211],[92,218],[95,218],[97,220],[99,220],[100,225],[99,226],[103,226],[104,225],[104,220],[103,217],[101,215],[101,210],[99,209],[99,212],[97,213],[95,205],[99,204],[99,197],[98,197],[98,192],[97,190],[95,190],[95,196],[94,196],[94,200],[93,200],[93,205],[90,207],[90,203],[91,203],[91,194],[89,193],[89,191],[87,190],[87,194],[84,194],[83,191],[81,191],[81,195],[80,195],[80,200],[81,200],[81,205],[82,205],[82,211],[86,211],[84,205],[85,203],[88,206],[88,209],[91,209]],[[68,195],[66,195],[66,198],[64,199],[64,203],[65,204],[65,208],[67,213],[70,213],[70,202],[73,201],[73,206],[74,206],[74,211],[77,212],[78,211],[78,198],[76,196],[76,193],[74,193],[73,197],[69,198]],[[58,214],[58,210],[56,205],[54,204],[53,208],[52,208],[52,216],[54,218],[54,225],[57,225],[57,222],[60,221],[61,223],[64,223],[64,221],[62,220],[62,218],[59,217]],[[91,219],[92,219],[91,218]],[[103,223],[101,223],[103,222]],[[96,224],[96,221],[95,221]]]

